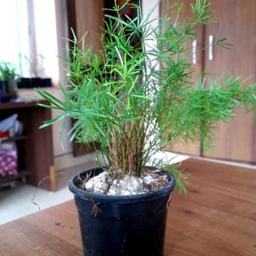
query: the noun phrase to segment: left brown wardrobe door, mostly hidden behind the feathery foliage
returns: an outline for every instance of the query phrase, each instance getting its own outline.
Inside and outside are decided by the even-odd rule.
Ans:
[[[176,16],[175,9],[170,9],[168,6],[172,6],[177,3],[176,0],[162,0],[160,5],[160,16],[171,18]],[[180,14],[180,19],[187,19],[191,14],[191,3],[195,3],[193,0],[182,0],[179,3],[183,3],[183,11]],[[203,34],[203,27],[198,28],[197,33]],[[195,38],[196,40],[196,63],[192,65],[192,68],[195,70],[195,73],[192,76],[192,82],[196,83],[199,76],[203,70],[203,37]],[[190,61],[192,63],[192,42],[189,42],[188,48],[190,48]],[[198,140],[195,143],[176,143],[174,147],[166,147],[166,150],[170,150],[176,153],[182,154],[191,154],[191,155],[201,155],[201,142]]]

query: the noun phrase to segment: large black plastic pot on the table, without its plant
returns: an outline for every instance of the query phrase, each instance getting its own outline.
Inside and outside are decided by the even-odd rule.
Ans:
[[[102,172],[96,168],[79,173],[85,177]],[[79,223],[86,256],[147,255],[162,256],[166,232],[166,214],[175,178],[160,190],[141,195],[96,195],[69,180],[79,212]],[[97,212],[97,213],[96,213]]]

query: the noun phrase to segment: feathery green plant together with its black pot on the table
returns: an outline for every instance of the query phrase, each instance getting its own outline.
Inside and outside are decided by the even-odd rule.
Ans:
[[[145,167],[148,162],[158,169],[166,166],[165,160],[154,158],[166,143],[203,137],[206,145],[211,144],[211,130],[218,120],[227,121],[236,108],[248,110],[256,104],[256,87],[245,87],[236,77],[212,81],[207,88],[203,76],[197,84],[191,83],[193,69],[187,46],[200,36],[196,28],[210,22],[206,0],[191,5],[190,20],[179,20],[177,15],[173,23],[163,19],[157,27],[151,26],[150,11],[142,15],[139,6],[131,7],[137,11],[136,18],[124,19],[120,15],[124,6],[116,3],[108,10],[100,55],[85,46],[85,36],[79,40],[74,35],[69,51],[70,84],[67,88],[60,85],[65,101],[38,90],[50,103],[42,107],[61,110],[42,127],[75,119],[72,139],[101,143],[107,172],[117,180],[143,177],[149,172]],[[157,45],[146,51],[151,37]],[[223,38],[217,38],[215,44],[227,46]],[[180,185],[175,167],[167,169],[176,174]],[[162,255],[173,177],[168,176],[169,182],[161,189],[140,195],[106,195],[106,191],[102,195],[79,187],[100,172],[102,168],[81,172],[70,181],[79,209],[84,253]],[[164,175],[166,172],[160,172],[159,178]]]

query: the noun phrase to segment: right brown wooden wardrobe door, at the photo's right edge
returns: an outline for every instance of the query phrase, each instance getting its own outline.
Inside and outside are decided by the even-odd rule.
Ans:
[[[256,1],[218,0],[212,1],[213,20],[218,22],[206,26],[206,44],[212,35],[227,38],[233,44],[231,50],[214,47],[213,58],[205,55],[208,79],[216,79],[226,73],[255,82],[256,73]],[[215,147],[203,155],[212,158],[238,161],[256,161],[256,126],[252,113],[237,110],[235,119],[228,124],[220,122],[215,129]]]

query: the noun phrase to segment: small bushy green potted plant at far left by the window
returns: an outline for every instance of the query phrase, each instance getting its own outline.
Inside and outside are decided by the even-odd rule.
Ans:
[[[17,80],[19,79],[18,73],[16,73],[15,65],[10,62],[2,61],[0,62],[0,78],[1,87],[6,87],[7,83],[7,93],[10,98],[17,97]],[[4,90],[4,89],[3,89]]]

